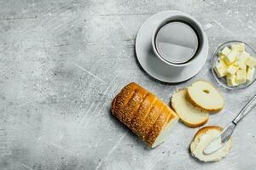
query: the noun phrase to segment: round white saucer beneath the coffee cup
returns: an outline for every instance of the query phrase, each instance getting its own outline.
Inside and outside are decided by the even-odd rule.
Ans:
[[[205,32],[204,46],[201,49],[201,54],[196,58],[197,62],[194,65],[186,67],[173,67],[161,61],[154,54],[152,49],[151,38],[156,26],[159,26],[162,20],[172,15],[183,14],[178,11],[163,11],[154,14],[143,23],[140,30],[137,32],[135,50],[137,59],[143,70],[151,77],[154,77],[161,82],[183,82],[191,77],[194,77],[205,64],[208,55],[208,39]]]

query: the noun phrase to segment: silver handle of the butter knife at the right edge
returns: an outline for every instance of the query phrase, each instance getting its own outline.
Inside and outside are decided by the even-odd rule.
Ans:
[[[252,99],[250,99],[247,103],[247,105],[245,105],[241,111],[239,112],[239,114],[236,116],[236,118],[232,121],[234,124],[237,124],[238,122],[241,121],[241,119],[244,116],[247,116],[247,114],[253,109],[253,107],[256,105],[256,94],[253,96]]]

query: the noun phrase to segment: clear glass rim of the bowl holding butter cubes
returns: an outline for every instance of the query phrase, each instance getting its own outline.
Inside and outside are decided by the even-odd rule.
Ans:
[[[256,81],[256,77],[253,78],[253,81],[252,81],[252,82],[249,82],[249,83],[247,83],[247,84],[244,84],[244,86],[238,85],[238,86],[230,87],[230,86],[228,86],[227,84],[224,84],[223,82],[221,82],[221,81],[219,80],[220,78],[218,77],[216,71],[214,71],[214,68],[213,68],[214,65],[215,65],[215,63],[216,63],[216,62],[214,62],[214,60],[215,60],[214,58],[216,57],[215,55],[218,54],[218,51],[220,50],[220,48],[224,48],[224,45],[225,45],[225,44],[228,44],[228,43],[231,43],[231,42],[243,42],[243,41],[240,41],[240,40],[230,40],[230,41],[228,41],[228,42],[221,43],[221,44],[218,46],[218,48],[216,48],[216,49],[214,50],[214,52],[213,52],[213,54],[212,54],[212,59],[211,59],[212,75],[213,75],[214,79],[218,82],[218,84],[220,84],[220,85],[223,86],[224,88],[227,88],[227,89],[230,89],[230,90],[244,89],[244,88],[247,88],[247,87],[251,86],[251,85],[253,84],[253,82]],[[243,42],[243,43],[246,44],[247,47],[251,48],[252,51],[253,51],[253,53],[256,54],[256,50],[255,50],[250,44],[248,44],[247,42]],[[217,55],[217,56],[218,56],[218,55]]]

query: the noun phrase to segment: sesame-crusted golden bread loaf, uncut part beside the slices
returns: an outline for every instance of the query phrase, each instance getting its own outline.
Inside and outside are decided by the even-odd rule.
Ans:
[[[177,124],[176,113],[135,82],[113,99],[112,113],[152,148],[163,143]]]

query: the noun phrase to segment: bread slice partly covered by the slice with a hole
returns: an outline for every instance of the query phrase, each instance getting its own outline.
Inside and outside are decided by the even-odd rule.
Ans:
[[[172,94],[171,105],[180,121],[189,127],[200,127],[207,123],[209,114],[192,105],[187,99],[187,89],[182,88]]]

